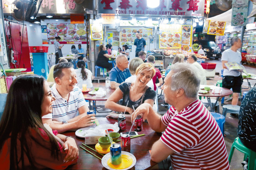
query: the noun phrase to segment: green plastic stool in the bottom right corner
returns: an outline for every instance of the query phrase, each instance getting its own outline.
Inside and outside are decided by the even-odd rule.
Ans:
[[[235,141],[232,144],[231,150],[230,150],[230,154],[229,154],[229,164],[231,162],[232,156],[233,156],[233,152],[235,150],[235,148],[244,153],[244,160],[249,157],[249,161],[248,161],[248,170],[251,169],[256,169],[256,152],[252,151],[251,149],[247,148],[246,146],[244,146],[241,142],[241,140],[239,139],[239,137],[237,137],[235,139]]]

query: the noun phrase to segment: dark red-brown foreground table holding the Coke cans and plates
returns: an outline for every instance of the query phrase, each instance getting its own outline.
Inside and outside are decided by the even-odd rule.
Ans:
[[[99,124],[114,124],[117,122],[117,119],[112,118],[97,118]],[[96,127],[96,125],[92,125],[92,127]],[[126,121],[126,131],[129,131],[131,128],[131,122]],[[132,131],[134,131],[132,129]],[[119,131],[122,132],[122,131]],[[77,170],[77,169],[87,169],[87,170],[106,170],[104,166],[101,164],[101,160],[94,157],[87,151],[84,151],[79,145],[83,146],[84,138],[80,138],[75,136],[75,132],[66,132],[62,133],[66,136],[72,136],[76,140],[76,145],[79,149],[79,157],[76,164],[69,166],[68,170]],[[157,163],[151,160],[149,150],[151,150],[152,145],[158,139],[160,139],[162,133],[156,133],[152,130],[148,123],[143,123],[143,130],[138,132],[138,134],[145,134],[145,136],[136,137],[131,139],[131,151],[130,153],[136,157],[136,164],[132,170],[144,170],[150,169],[151,167],[155,166]],[[120,138],[119,138],[120,139]],[[120,144],[120,142],[117,142]],[[95,149],[95,145],[88,145],[91,148]],[[90,148],[83,146],[88,151],[92,152],[93,154],[97,155],[98,157],[102,158],[103,156],[98,154],[95,151],[92,151]]]

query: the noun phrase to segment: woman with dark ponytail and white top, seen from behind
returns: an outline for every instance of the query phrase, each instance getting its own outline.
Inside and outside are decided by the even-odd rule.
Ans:
[[[82,85],[86,84],[87,88],[93,87],[92,79],[93,73],[90,70],[85,68],[85,62],[83,60],[79,60],[77,62],[78,69],[75,69],[76,72],[76,79],[77,79],[77,86],[82,89]]]

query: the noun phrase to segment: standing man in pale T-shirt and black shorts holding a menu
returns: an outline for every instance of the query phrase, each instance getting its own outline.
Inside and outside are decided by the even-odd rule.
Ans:
[[[238,104],[239,93],[241,92],[242,86],[242,76],[241,72],[243,70],[228,70],[225,66],[225,63],[236,62],[240,63],[242,60],[241,52],[238,51],[239,48],[242,47],[241,39],[238,37],[232,37],[230,40],[231,48],[226,49],[222,53],[221,61],[222,67],[224,69],[223,79],[222,79],[222,87],[224,88],[232,88],[233,90],[233,99],[232,105]]]

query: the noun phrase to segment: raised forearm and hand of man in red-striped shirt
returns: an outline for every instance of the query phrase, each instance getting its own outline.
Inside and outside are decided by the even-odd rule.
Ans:
[[[145,121],[145,119],[148,120],[148,124],[149,126],[156,132],[162,132],[165,131],[166,129],[166,125],[163,124],[163,122],[161,121],[161,115],[159,115],[158,113],[156,113],[152,106],[148,103],[143,103],[141,104],[136,110],[135,112],[131,115],[131,121],[133,122],[133,120],[135,118],[137,118],[138,115],[142,114],[142,119],[143,121]]]

